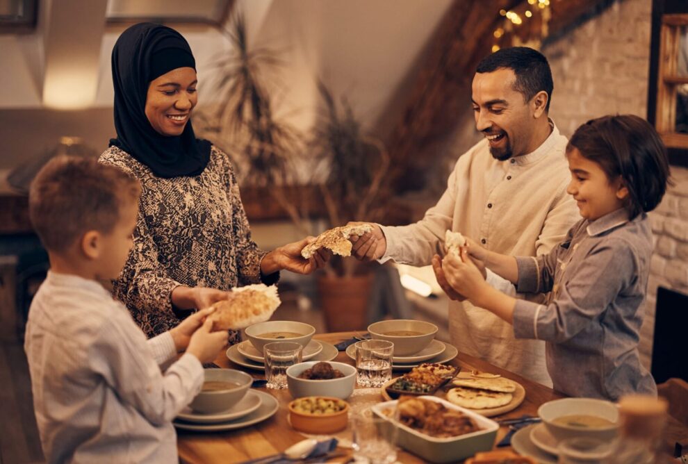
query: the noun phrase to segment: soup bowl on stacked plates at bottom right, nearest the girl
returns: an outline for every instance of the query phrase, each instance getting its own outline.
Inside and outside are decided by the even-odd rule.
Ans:
[[[619,429],[619,408],[604,399],[555,399],[540,406],[537,413],[557,440],[573,437],[611,440]]]

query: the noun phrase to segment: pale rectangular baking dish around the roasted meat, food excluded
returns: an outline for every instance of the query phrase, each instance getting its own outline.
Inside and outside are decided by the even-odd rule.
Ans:
[[[455,463],[473,456],[477,452],[492,449],[499,429],[497,422],[466,408],[461,408],[461,406],[456,406],[445,399],[430,396],[420,398],[436,401],[454,411],[461,411],[473,419],[481,430],[456,437],[436,438],[393,420],[393,424],[398,428],[397,445],[432,463]],[[379,417],[387,417],[384,411],[393,410],[396,406],[397,400],[378,403],[372,406],[372,412]]]

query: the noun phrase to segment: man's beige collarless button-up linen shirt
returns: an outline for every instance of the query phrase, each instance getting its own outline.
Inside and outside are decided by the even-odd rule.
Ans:
[[[459,158],[447,190],[423,219],[408,226],[382,227],[387,240],[382,260],[428,265],[434,254],[443,254],[447,229],[501,254],[547,254],[580,219],[575,201],[566,194],[570,179],[566,143],[554,124],[535,151],[506,161],[491,156],[487,140],[478,142]],[[488,281],[515,295],[514,286],[499,276],[489,273]],[[516,340],[514,328],[489,311],[469,301],[450,301],[449,329],[459,352],[551,385],[545,344]]]

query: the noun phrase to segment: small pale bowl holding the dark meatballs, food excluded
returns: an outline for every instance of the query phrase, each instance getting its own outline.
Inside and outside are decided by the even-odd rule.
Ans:
[[[347,399],[354,392],[356,385],[356,367],[345,363],[327,361],[333,369],[341,371],[343,377],[328,380],[299,379],[298,376],[320,361],[308,361],[287,367],[287,386],[291,396],[301,397],[335,397]]]

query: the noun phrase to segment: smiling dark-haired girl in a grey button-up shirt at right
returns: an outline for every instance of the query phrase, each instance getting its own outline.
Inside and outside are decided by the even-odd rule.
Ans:
[[[575,131],[566,157],[567,192],[583,219],[563,243],[545,256],[514,258],[468,239],[460,258],[445,256],[443,274],[475,306],[513,324],[516,338],[546,340],[556,390],[611,400],[656,395],[637,346],[653,249],[646,213],[660,203],[669,178],[664,145],[640,117],[605,116]],[[547,303],[491,288],[469,255],[519,292],[550,292]]]

